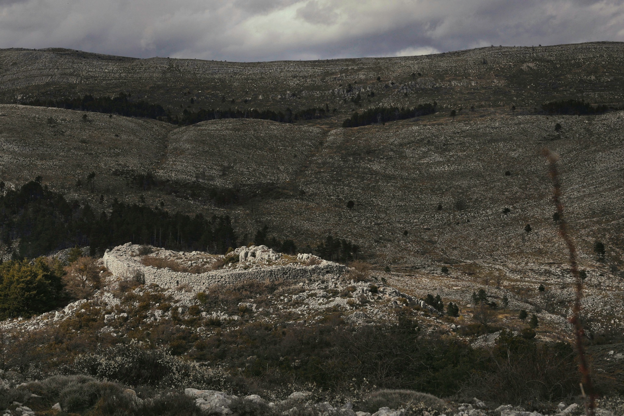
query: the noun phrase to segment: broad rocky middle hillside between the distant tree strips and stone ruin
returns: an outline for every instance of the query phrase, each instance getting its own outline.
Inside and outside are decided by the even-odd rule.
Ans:
[[[238,235],[248,235],[241,243],[268,225],[300,247],[314,247],[329,233],[348,238],[379,264],[525,269],[527,262],[565,259],[539,154],[548,147],[560,155],[565,209],[583,266],[595,266],[592,247],[600,239],[619,267],[623,117],[467,112],[454,120],[334,130],[249,119],[173,128],[0,105],[1,179],[12,186],[41,175],[68,199],[104,210],[117,198],[227,213]],[[562,129],[555,132],[557,123]]]

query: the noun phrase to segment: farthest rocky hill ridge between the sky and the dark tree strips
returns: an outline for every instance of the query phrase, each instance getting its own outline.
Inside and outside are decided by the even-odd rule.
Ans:
[[[448,108],[511,105],[532,110],[553,98],[622,103],[621,42],[484,47],[427,56],[281,62],[135,59],[67,49],[0,51],[0,102],[130,92],[182,107],[284,110],[437,100]],[[379,80],[378,80],[379,77]],[[371,97],[371,92],[374,96]],[[191,102],[193,99],[193,102]]]

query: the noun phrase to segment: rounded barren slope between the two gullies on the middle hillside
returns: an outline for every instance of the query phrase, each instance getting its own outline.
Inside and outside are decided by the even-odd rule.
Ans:
[[[158,175],[211,185],[286,183],[323,140],[320,128],[265,120],[213,120],[174,130]]]

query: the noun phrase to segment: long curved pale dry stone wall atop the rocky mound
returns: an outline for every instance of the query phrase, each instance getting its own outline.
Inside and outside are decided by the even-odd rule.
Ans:
[[[158,269],[140,263],[139,246],[130,243],[109,249],[104,253],[104,264],[117,278],[132,279],[140,274],[145,284],[157,284],[162,288],[173,289],[188,285],[194,291],[202,291],[209,286],[233,286],[245,280],[278,281],[316,279],[329,274],[340,275],[346,271],[343,264],[322,261],[313,266],[288,264],[286,266],[255,266],[250,269],[218,270],[207,273],[180,273],[169,268]]]

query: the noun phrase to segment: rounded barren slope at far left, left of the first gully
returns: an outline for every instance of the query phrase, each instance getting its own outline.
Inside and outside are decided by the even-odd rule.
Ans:
[[[37,176],[54,189],[87,193],[86,177],[95,172],[97,193],[124,193],[125,180],[112,172],[152,170],[165,150],[173,126],[154,120],[0,105],[2,180],[21,185]],[[83,189],[76,188],[82,180]],[[111,191],[114,190],[114,191]]]

